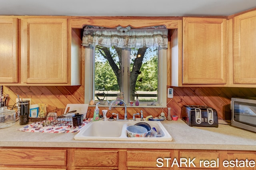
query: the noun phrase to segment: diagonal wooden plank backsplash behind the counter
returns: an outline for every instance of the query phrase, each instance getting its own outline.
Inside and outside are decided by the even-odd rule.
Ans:
[[[174,97],[172,100],[167,99],[167,107],[171,107],[172,115],[180,117],[181,107],[183,105],[205,105],[213,107],[218,112],[221,119],[230,119],[230,100],[233,96],[245,97],[256,96],[256,88],[227,88],[227,87],[172,87],[174,88]],[[10,100],[8,105],[16,102],[17,94],[20,98],[31,98],[32,104],[45,103],[47,110],[56,108],[65,108],[66,104],[83,104],[84,103],[84,86],[4,86],[4,94],[9,94]],[[93,115],[94,107],[89,107]],[[108,107],[100,107],[100,110]],[[134,108],[127,109],[128,117],[133,113],[143,111],[144,117],[152,115],[158,116],[161,112],[167,113],[167,108]],[[124,108],[114,107],[110,113],[120,113],[123,117]],[[109,117],[110,115],[108,115]]]

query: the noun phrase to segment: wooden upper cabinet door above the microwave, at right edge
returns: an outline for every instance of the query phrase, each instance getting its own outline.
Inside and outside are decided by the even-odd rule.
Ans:
[[[256,83],[256,11],[234,17],[234,84]]]

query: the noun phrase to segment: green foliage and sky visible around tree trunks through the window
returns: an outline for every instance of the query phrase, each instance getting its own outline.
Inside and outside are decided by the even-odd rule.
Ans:
[[[108,49],[115,61],[120,66],[118,54],[114,47]],[[138,49],[132,48],[130,51],[130,68],[132,70],[134,59],[138,55]],[[97,47],[95,51],[95,90],[105,89],[118,91],[118,82],[110,64],[104,57],[105,53],[101,47]],[[156,91],[158,89],[158,51],[157,48],[148,48],[143,59],[142,66],[139,70],[136,82],[136,90]],[[141,80],[141,81],[138,81]]]

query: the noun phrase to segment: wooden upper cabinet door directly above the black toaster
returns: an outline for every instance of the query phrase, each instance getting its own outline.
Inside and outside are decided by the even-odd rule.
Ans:
[[[226,19],[183,18],[183,84],[226,84]]]

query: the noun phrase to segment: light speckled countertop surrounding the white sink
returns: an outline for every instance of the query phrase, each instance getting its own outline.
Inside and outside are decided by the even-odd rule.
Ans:
[[[220,123],[220,121],[219,121]],[[32,133],[18,131],[18,122],[0,129],[0,147],[78,147],[129,149],[218,149],[256,150],[256,133],[219,124],[219,127],[189,127],[184,121],[163,121],[173,140],[164,141],[84,141],[77,133]]]

